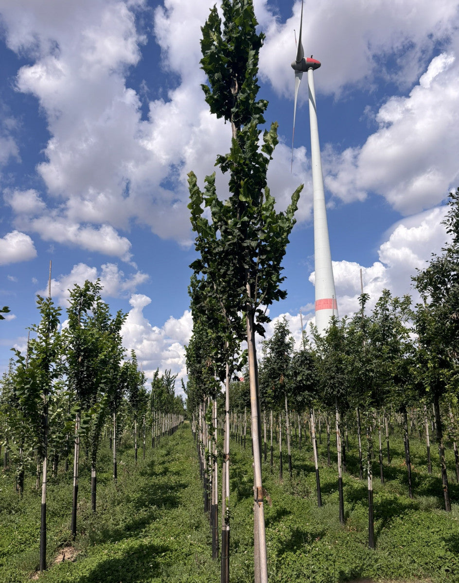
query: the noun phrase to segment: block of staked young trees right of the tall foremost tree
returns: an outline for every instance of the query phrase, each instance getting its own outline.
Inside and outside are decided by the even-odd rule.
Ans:
[[[422,278],[420,273],[418,278]],[[416,278],[416,279],[418,279]],[[279,431],[279,476],[282,479],[282,424],[288,447],[289,473],[292,476],[290,439],[292,426],[298,429],[299,444],[303,427],[308,426],[316,468],[317,502],[321,506],[320,476],[317,452],[316,412],[321,427],[327,428],[328,463],[330,465],[330,433],[335,430],[338,455],[339,519],[344,522],[342,471],[345,468],[347,429],[355,427],[358,436],[359,474],[366,468],[369,496],[369,546],[374,547],[373,532],[373,432],[379,442],[380,479],[384,482],[383,443],[390,463],[390,428],[400,424],[404,436],[408,495],[413,497],[409,429],[416,427],[426,439],[427,469],[432,473],[430,431],[435,430],[439,449],[439,470],[444,507],[451,510],[444,451],[444,428],[451,438],[459,481],[457,450],[457,362],[439,366],[439,354],[426,335],[426,317],[434,321],[432,305],[411,307],[411,298],[392,297],[384,290],[371,314],[366,314],[367,294],[360,296],[361,309],[352,318],[331,322],[321,336],[316,331],[311,340],[303,335],[303,345],[293,350],[285,319],[275,325],[272,338],[263,342],[260,362],[260,401],[264,419],[264,451],[267,455],[267,429],[271,431],[270,452],[273,459],[273,428]],[[437,322],[436,322],[437,325]],[[437,328],[437,333],[443,333]],[[433,370],[435,369],[435,371]],[[429,371],[426,374],[426,371]],[[439,379],[442,379],[439,382]],[[449,381],[444,382],[445,378]],[[247,408],[245,382],[230,386],[232,410],[242,413]],[[267,412],[268,417],[267,419]],[[273,414],[276,423],[273,422]],[[296,426],[297,420],[297,426]],[[422,427],[422,429],[421,429]],[[244,431],[245,433],[245,431]],[[365,436],[365,438],[364,438]],[[362,441],[364,444],[362,445]],[[364,453],[363,453],[364,451]]]

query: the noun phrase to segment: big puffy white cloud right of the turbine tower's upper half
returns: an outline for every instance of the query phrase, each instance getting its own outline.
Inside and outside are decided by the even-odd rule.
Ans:
[[[459,40],[456,52],[459,50]],[[407,97],[391,97],[362,147],[327,152],[328,189],[344,201],[377,192],[404,215],[439,204],[459,180],[459,59],[430,62]]]

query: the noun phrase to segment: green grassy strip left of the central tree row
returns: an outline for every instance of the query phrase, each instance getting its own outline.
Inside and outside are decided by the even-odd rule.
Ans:
[[[102,451],[101,466],[110,463]],[[69,542],[71,480],[50,484],[48,562],[40,575],[48,582],[143,583],[215,581],[218,566],[209,556],[208,520],[202,512],[198,463],[189,429],[163,438],[135,467],[132,452],[120,452],[118,483],[101,479],[97,512],[89,505],[89,475],[80,477],[78,555],[74,562],[53,565],[59,548]],[[104,484],[105,482],[105,484]],[[38,565],[40,497],[30,490],[22,502],[10,496],[14,515],[1,514],[0,581],[22,583]],[[3,494],[0,493],[0,494]],[[12,498],[16,498],[13,500]],[[3,507],[8,507],[5,504]],[[17,517],[17,518],[15,518]],[[204,574],[204,576],[203,576]]]

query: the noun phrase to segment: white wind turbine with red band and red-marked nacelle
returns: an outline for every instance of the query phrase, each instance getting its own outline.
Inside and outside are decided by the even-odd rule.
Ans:
[[[295,71],[295,103],[293,105],[293,137],[292,137],[292,161],[293,138],[295,137],[295,117],[298,90],[307,71],[307,83],[309,87],[309,120],[311,129],[311,167],[313,171],[313,203],[314,203],[314,269],[316,271],[316,326],[318,332],[323,334],[330,324],[332,316],[338,317],[338,305],[335,292],[335,280],[331,264],[330,239],[328,237],[327,211],[325,210],[324,178],[322,174],[322,161],[320,157],[320,143],[317,125],[316,92],[314,91],[314,71],[320,67],[320,61],[304,58],[304,50],[301,41],[303,27],[303,0],[301,3],[300,35],[296,59],[292,62]]]

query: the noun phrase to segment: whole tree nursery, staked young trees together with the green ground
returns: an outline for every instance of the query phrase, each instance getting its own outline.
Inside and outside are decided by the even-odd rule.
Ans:
[[[232,132],[216,159],[228,192],[188,172],[181,390],[171,370],[146,384],[99,279],[73,285],[61,321],[50,263],[40,323],[0,381],[0,583],[459,583],[459,189],[442,254],[412,277],[418,303],[362,281],[358,311],[338,319],[330,292],[327,329],[301,322],[296,349],[286,318],[266,338],[303,185],[279,210],[265,35],[251,0],[221,13],[200,64]],[[297,89],[318,63],[301,26]]]

